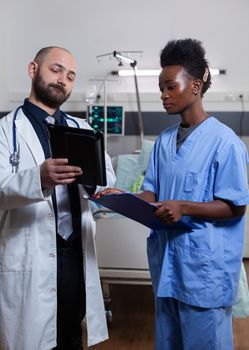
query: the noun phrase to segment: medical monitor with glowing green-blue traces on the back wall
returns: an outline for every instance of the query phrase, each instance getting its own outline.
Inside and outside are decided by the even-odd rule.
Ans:
[[[124,135],[124,119],[123,106],[107,106],[107,135]],[[87,121],[95,131],[104,131],[104,106],[88,106]]]

